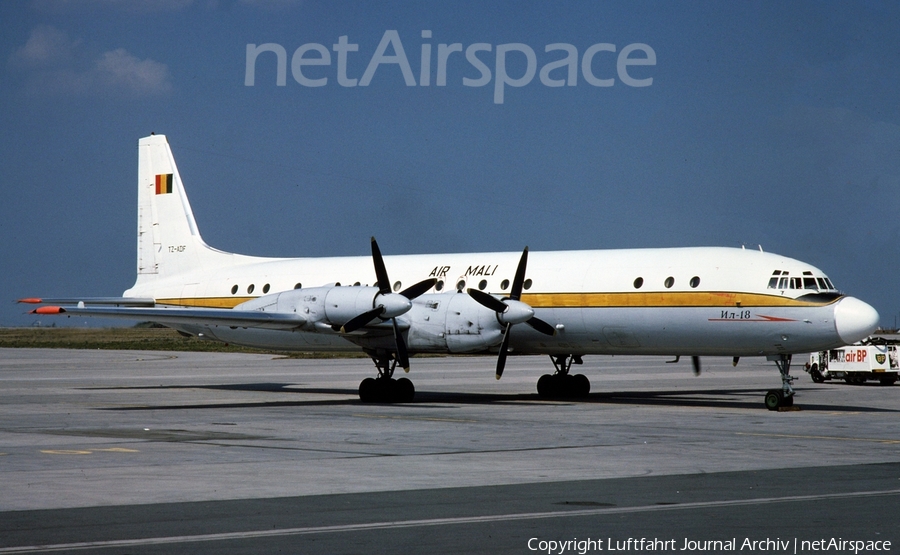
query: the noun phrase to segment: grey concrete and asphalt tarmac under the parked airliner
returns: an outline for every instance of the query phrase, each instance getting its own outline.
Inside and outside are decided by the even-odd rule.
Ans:
[[[585,357],[547,401],[547,357],[413,358],[390,405],[366,359],[0,349],[0,555],[900,549],[900,385],[802,362],[770,412],[764,359]]]

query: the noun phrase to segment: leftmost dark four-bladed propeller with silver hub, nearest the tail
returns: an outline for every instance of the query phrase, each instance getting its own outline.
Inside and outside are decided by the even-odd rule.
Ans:
[[[341,326],[341,333],[354,332],[375,318],[390,319],[394,327],[394,342],[397,345],[397,363],[404,371],[409,372],[409,352],[397,325],[397,316],[406,313],[412,307],[410,301],[434,287],[437,279],[422,280],[399,293],[394,293],[384,265],[384,257],[381,256],[381,249],[378,248],[374,237],[372,237],[372,262],[375,264],[375,277],[378,280],[378,294],[373,301],[375,308],[351,318]]]

